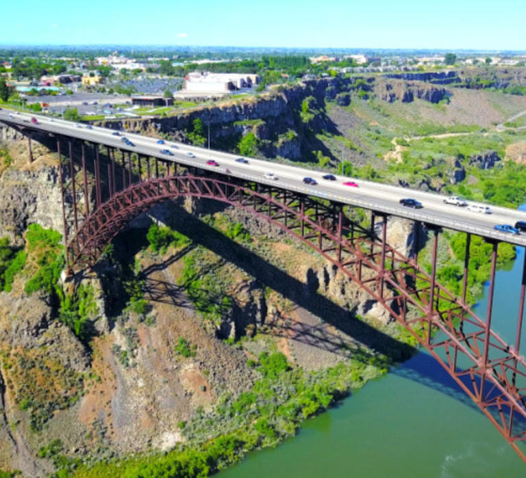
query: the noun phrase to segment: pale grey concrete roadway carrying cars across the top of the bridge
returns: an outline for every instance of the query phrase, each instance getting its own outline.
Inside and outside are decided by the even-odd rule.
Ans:
[[[37,118],[38,124],[31,122],[32,117]],[[326,198],[344,204],[364,207],[377,213],[387,213],[427,224],[434,224],[453,230],[460,230],[465,233],[472,233],[482,237],[526,246],[526,233],[517,236],[501,233],[493,228],[495,224],[511,224],[513,226],[518,220],[526,221],[526,211],[491,206],[491,214],[475,213],[468,211],[466,207],[444,204],[444,196],[440,194],[338,175],[336,175],[336,181],[327,181],[321,177],[325,173],[316,170],[250,157],[246,158],[248,161],[247,164],[237,163],[236,159],[240,157],[239,155],[208,150],[197,146],[189,146],[173,141],[166,141],[166,144],[158,144],[158,138],[138,135],[136,133],[121,133],[125,134],[126,137],[135,144],[135,146],[127,146],[121,142],[122,136],[112,135],[115,130],[102,127],[92,127],[92,129],[88,129],[86,128],[86,124],[55,118],[51,119],[47,116],[15,113],[14,111],[1,109],[0,121],[6,124],[15,124],[18,127],[76,137],[79,140],[104,144],[121,150],[137,152],[145,156],[162,158],[164,161],[192,165],[203,170],[210,170],[249,181],[299,191],[318,198]],[[177,148],[171,147],[171,145],[174,144]],[[173,156],[162,154],[160,152],[162,149],[171,150]],[[188,152],[192,152],[195,157],[188,157]],[[214,159],[219,166],[207,165],[206,161],[208,159]],[[264,176],[266,172],[273,172],[278,177],[277,181],[266,178]],[[303,184],[303,178],[305,176],[316,179],[318,185]],[[359,187],[349,187],[342,184],[344,181],[349,180],[358,183]],[[401,204],[399,204],[399,200],[408,197],[421,201],[423,209],[402,207]]]

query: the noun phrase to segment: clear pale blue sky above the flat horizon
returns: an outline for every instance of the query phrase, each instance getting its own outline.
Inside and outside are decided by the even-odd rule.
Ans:
[[[0,44],[526,50],[526,0],[18,0]]]

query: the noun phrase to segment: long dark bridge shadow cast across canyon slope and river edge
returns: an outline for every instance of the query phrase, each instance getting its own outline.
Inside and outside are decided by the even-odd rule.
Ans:
[[[207,204],[210,202],[205,201]],[[215,202],[214,207],[214,209],[220,210],[223,209],[223,204]],[[393,367],[392,373],[428,386],[479,411],[478,406],[434,358],[424,352],[416,353],[417,350],[414,347],[401,343],[369,326],[368,323],[360,321],[354,317],[351,310],[335,304],[318,293],[317,280],[309,280],[309,278],[305,282],[297,280],[297,278],[268,263],[266,259],[227,238],[180,207],[177,207],[176,213],[171,215],[170,225],[189,237],[192,240],[192,245],[177,252],[166,261],[151,265],[141,271],[140,278],[144,280],[145,297],[149,300],[192,308],[192,304],[188,302],[184,293],[186,284],[173,284],[169,280],[154,279],[151,278],[151,273],[166,269],[192,248],[202,245],[220,257],[220,260],[212,267],[220,267],[226,262],[233,263],[253,276],[261,287],[269,287],[277,291],[286,299],[297,304],[299,308],[303,308],[308,313],[322,319],[321,323],[314,325],[295,320],[271,319],[266,323],[266,326],[273,334],[305,343],[320,350],[331,351],[340,356],[352,356],[355,360],[367,362],[368,354],[363,351],[360,352],[359,349],[357,351],[355,348],[356,343],[362,343],[368,349],[384,354],[392,362],[403,362],[401,366]],[[144,230],[131,232],[127,230],[116,238],[116,241],[125,246],[125,255],[130,264],[133,263],[134,254],[145,245]],[[140,236],[142,236],[142,241],[137,241]],[[242,310],[238,310],[238,313],[242,313]],[[327,328],[327,324],[336,329],[336,332]],[[467,380],[466,378],[466,384]],[[526,428],[526,421],[523,421],[518,415],[517,419],[516,429]]]

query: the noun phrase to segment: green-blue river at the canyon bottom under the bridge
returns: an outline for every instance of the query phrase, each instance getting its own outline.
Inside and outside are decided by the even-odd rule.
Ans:
[[[523,209],[521,207],[521,209]],[[492,329],[514,343],[525,251],[497,272]],[[485,316],[488,297],[475,309]],[[526,332],[523,333],[525,354]],[[221,478],[525,477],[526,464],[425,351]]]

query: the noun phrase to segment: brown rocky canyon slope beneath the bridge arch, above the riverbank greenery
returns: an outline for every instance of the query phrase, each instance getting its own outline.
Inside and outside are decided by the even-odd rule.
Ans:
[[[56,159],[34,144],[29,164],[27,142],[3,134],[10,164],[0,176],[0,237],[20,246],[28,224],[62,230]],[[190,243],[153,254],[145,230],[130,229],[95,271],[66,282],[64,294],[84,291],[86,334],[68,321],[72,310],[59,306],[52,291],[25,291],[36,258],[16,274],[12,291],[0,293],[0,468],[43,477],[54,469],[53,455],[39,456],[39,450],[53,443],[84,462],[171,449],[188,439],[186,421],[251,388],[259,375],[247,358],[269,343],[305,369],[346,360],[356,344],[395,360],[403,356],[396,341],[355,319],[386,324],[374,301],[266,222],[195,201],[168,202],[135,224],[144,227],[152,218]],[[254,239],[228,239],[221,231],[235,222]],[[390,222],[388,239],[403,252],[411,237],[409,223]],[[214,277],[199,286],[207,296],[217,291],[206,288],[219,284],[232,297],[214,321],[198,313],[186,293],[183,279],[195,264],[203,271],[198,280]],[[138,290],[147,306],[135,309]],[[253,337],[246,347],[223,341],[243,336]],[[184,355],[177,348],[181,338],[192,347]]]

